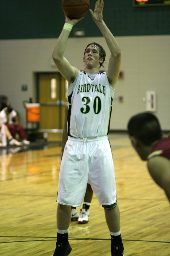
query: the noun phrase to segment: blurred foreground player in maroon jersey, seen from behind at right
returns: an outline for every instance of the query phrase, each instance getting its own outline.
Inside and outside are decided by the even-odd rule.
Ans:
[[[158,119],[148,112],[130,119],[128,133],[138,155],[147,161],[151,177],[170,201],[170,137],[162,137]]]

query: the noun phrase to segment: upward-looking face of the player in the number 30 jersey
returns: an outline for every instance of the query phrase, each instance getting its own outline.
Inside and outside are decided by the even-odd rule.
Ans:
[[[99,50],[94,46],[89,46],[85,50],[84,60],[87,67],[98,67],[102,60],[99,59]]]

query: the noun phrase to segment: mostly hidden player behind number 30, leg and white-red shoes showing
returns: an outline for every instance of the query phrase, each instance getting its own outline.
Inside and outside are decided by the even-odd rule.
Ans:
[[[65,107],[65,118],[64,118],[64,128],[62,134],[62,155],[65,148],[66,141],[68,140],[67,133],[67,115],[68,115],[68,105]],[[80,209],[80,215],[76,207],[71,206],[71,221],[77,221],[79,224],[87,224],[90,217],[90,204],[93,197],[93,190],[90,184],[87,184],[86,193],[84,196],[83,207]]]

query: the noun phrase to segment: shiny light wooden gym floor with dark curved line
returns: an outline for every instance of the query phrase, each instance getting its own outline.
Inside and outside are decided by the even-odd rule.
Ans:
[[[126,134],[109,139],[125,256],[170,256],[170,204],[164,192]],[[53,255],[60,159],[60,142],[0,149],[0,255]],[[89,223],[72,222],[69,236],[73,256],[111,255],[104,210],[95,195]]]

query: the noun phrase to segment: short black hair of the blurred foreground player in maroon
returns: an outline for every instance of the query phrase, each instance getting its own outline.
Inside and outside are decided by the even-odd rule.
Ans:
[[[155,115],[143,112],[134,115],[128,121],[128,133],[145,145],[162,138],[161,126]]]

